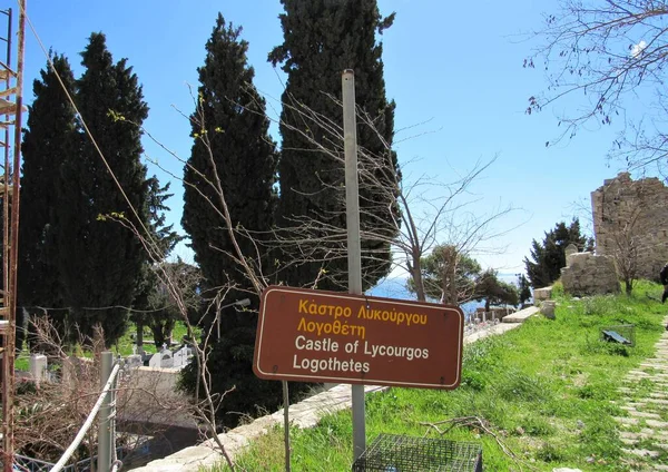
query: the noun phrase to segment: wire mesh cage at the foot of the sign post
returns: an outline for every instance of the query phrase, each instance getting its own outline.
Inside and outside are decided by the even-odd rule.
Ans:
[[[480,444],[380,434],[353,463],[353,472],[482,472]]]

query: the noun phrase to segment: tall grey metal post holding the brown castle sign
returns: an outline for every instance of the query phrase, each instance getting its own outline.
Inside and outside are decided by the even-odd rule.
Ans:
[[[348,292],[362,295],[362,246],[360,244],[360,195],[357,184],[357,126],[355,120],[355,72],[341,76],[343,88],[343,138],[345,151],[345,220],[348,249]],[[364,385],[352,385],[353,461],[366,449]]]

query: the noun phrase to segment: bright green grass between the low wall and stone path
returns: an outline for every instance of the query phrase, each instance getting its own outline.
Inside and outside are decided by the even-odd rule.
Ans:
[[[557,318],[530,318],[503,336],[466,346],[454,391],[391,389],[366,399],[366,437],[379,433],[440,436],[482,445],[485,470],[519,471],[490,433],[512,450],[523,470],[628,471],[611,401],[626,373],[654,353],[665,308],[647,297],[661,288],[640,282],[632,297],[572,299],[557,295]],[[601,326],[633,324],[636,346],[599,340]],[[638,394],[648,385],[639,382]],[[632,396],[632,395],[631,395]],[[452,419],[480,425],[448,429]],[[432,426],[430,426],[430,424]],[[434,427],[435,426],[435,427]],[[438,429],[438,430],[436,430]],[[326,415],[311,430],[291,430],[294,471],[345,471],[352,462],[351,412]],[[658,459],[668,464],[666,454]],[[283,430],[275,427],[237,458],[238,470],[283,471]],[[655,463],[657,463],[655,461]],[[225,471],[219,465],[212,471]]]

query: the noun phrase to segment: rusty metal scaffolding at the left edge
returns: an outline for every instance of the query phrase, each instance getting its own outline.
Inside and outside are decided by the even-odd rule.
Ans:
[[[13,395],[17,308],[17,265],[19,238],[19,183],[21,169],[21,115],[23,111],[23,45],[26,32],[26,2],[19,0],[19,24],[17,31],[17,67],[12,69],[12,11],[0,10],[7,17],[7,52],[0,60],[0,147],[4,149],[4,161],[0,175],[2,199],[2,288],[0,291],[0,335],[2,345],[2,450],[0,460],[3,471],[12,471],[13,443]],[[2,18],[0,14],[0,19]]]

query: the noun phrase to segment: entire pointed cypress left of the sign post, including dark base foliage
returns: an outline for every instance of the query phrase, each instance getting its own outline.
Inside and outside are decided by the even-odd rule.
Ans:
[[[253,286],[235,260],[238,255],[229,229],[249,264],[262,264],[258,252],[266,259],[263,245],[256,243],[272,228],[276,150],[268,136],[265,101],[253,86],[255,72],[247,65],[248,43],[240,32],[218,14],[204,66],[198,68],[199,106],[191,116],[194,145],[184,170],[181,224],[208,288],[205,297],[212,298],[220,287],[233,287],[224,305],[246,297],[252,301],[249,312],[224,311],[222,338],[208,357],[208,368],[215,373],[213,390],[224,393],[236,386],[225,407],[250,412],[255,405],[275,406],[279,383],[259,381],[252,372],[258,299],[245,291]],[[222,217],[219,190],[229,222]],[[195,382],[193,367],[186,383],[194,386]]]

